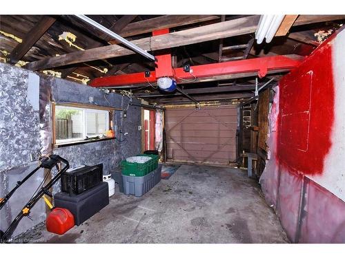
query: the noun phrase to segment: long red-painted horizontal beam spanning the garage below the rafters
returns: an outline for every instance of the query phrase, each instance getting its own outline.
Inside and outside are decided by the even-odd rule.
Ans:
[[[266,56],[251,58],[239,61],[230,61],[224,63],[211,63],[207,65],[195,65],[190,67],[190,73],[184,72],[183,68],[173,69],[177,83],[182,79],[202,78],[208,76],[220,76],[225,74],[241,74],[246,72],[257,72],[260,78],[266,76],[268,71],[279,69],[293,69],[297,67],[302,60],[296,60],[288,56]],[[193,75],[194,76],[193,76]],[[156,73],[150,72],[149,77],[145,77],[144,72],[135,74],[121,74],[95,78],[90,82],[92,87],[116,87],[122,85],[131,85],[138,83],[154,83],[157,81]]]

